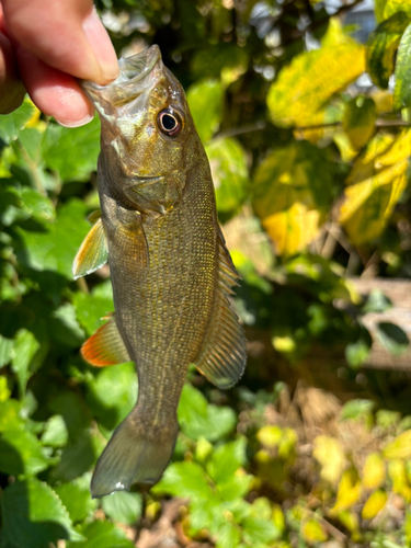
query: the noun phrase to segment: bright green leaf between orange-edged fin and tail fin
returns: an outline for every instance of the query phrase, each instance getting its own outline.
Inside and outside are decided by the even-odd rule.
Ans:
[[[87,401],[104,427],[114,430],[136,404],[137,374],[133,362],[98,372],[88,383]]]

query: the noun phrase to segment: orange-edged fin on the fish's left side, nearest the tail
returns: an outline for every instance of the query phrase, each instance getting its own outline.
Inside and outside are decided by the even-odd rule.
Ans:
[[[129,362],[127,349],[118,332],[115,316],[99,328],[81,346],[81,355],[95,367],[106,367]]]

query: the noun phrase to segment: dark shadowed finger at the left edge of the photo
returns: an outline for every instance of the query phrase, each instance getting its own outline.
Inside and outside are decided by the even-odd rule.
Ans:
[[[0,33],[0,114],[18,109],[25,89],[18,77],[18,65],[10,39]]]

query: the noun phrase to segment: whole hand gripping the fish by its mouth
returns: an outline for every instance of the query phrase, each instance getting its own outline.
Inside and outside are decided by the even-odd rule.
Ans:
[[[0,1],[0,114],[34,104],[64,126],[92,119],[77,79],[107,84],[116,54],[92,0]]]

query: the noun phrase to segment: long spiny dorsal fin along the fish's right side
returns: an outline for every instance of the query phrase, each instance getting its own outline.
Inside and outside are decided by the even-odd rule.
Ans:
[[[218,286],[212,319],[203,345],[194,361],[197,369],[218,388],[230,388],[244,372],[246,339],[229,296],[239,275],[226,248],[221,230],[218,238]]]

